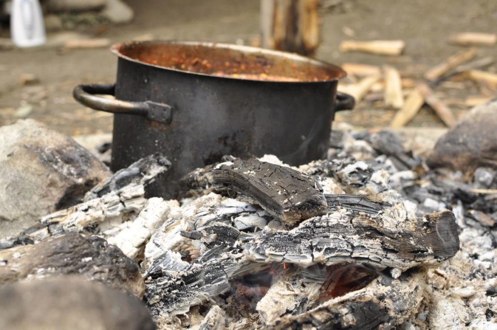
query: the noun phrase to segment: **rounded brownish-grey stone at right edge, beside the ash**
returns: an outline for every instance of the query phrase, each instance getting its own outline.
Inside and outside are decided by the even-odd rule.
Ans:
[[[480,166],[497,168],[497,99],[472,108],[437,141],[427,164],[464,173]]]

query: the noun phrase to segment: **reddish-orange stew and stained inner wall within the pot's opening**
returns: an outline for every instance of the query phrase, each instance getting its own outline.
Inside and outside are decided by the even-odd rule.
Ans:
[[[130,43],[113,51],[155,66],[234,79],[322,82],[345,76],[338,67],[298,55],[225,44]]]

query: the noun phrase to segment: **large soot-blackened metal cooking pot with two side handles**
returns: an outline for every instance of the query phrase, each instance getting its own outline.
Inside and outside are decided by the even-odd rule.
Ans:
[[[336,94],[342,69],[295,54],[177,41],[111,50],[115,85],[79,85],[74,97],[115,113],[112,170],[155,152],[171,161],[152,191],[165,198],[176,196],[184,174],[223,155],[274,154],[290,165],[323,159],[334,112],[354,104]]]

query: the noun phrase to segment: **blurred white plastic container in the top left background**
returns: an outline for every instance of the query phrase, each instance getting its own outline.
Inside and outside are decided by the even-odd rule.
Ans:
[[[10,34],[18,47],[35,47],[46,42],[43,13],[38,0],[12,1]]]

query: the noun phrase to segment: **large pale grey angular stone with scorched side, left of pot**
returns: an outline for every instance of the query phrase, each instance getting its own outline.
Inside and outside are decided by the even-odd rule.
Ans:
[[[0,127],[0,239],[77,204],[110,174],[72,138],[35,120]]]

